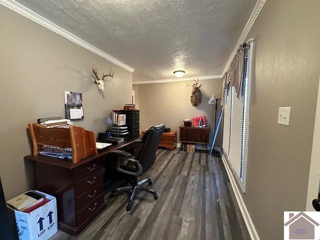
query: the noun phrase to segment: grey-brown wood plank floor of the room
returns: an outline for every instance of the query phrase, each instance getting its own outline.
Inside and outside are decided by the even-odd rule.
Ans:
[[[221,158],[200,152],[159,149],[151,169],[159,198],[140,192],[127,212],[127,195],[110,198],[106,209],[77,237],[67,239],[250,239]],[[147,184],[146,184],[147,185]]]

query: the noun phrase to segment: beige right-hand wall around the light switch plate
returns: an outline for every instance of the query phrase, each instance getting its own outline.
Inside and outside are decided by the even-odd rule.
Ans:
[[[260,239],[283,239],[283,211],[305,209],[320,72],[320,1],[267,0],[254,37],[246,192]],[[291,106],[290,126],[277,124]]]

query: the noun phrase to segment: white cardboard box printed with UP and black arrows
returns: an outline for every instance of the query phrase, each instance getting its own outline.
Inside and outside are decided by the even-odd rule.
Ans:
[[[15,216],[19,240],[46,240],[58,230],[55,197],[41,191],[34,192],[44,195],[50,201],[30,213],[7,205],[9,214]]]

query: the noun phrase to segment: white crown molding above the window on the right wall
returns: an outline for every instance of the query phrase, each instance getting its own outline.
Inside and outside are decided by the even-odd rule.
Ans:
[[[224,72],[227,71],[228,67],[230,66],[231,64],[231,61],[236,53],[236,50],[238,49],[239,45],[243,43],[245,37],[247,36],[249,30],[251,29],[255,19],[257,18],[258,14],[260,13],[261,9],[262,9],[262,6],[264,5],[266,0],[257,0],[252,11],[251,11],[251,14],[239,36],[239,39],[237,40],[235,46],[234,46],[234,49],[228,59],[228,61],[226,62],[226,65],[223,69],[223,72],[222,72],[222,75],[224,74]]]

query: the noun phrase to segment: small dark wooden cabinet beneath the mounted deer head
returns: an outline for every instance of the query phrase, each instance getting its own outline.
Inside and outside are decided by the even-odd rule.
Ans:
[[[184,142],[189,143],[209,143],[209,127],[196,127],[196,126],[180,126],[180,141],[183,144]]]

